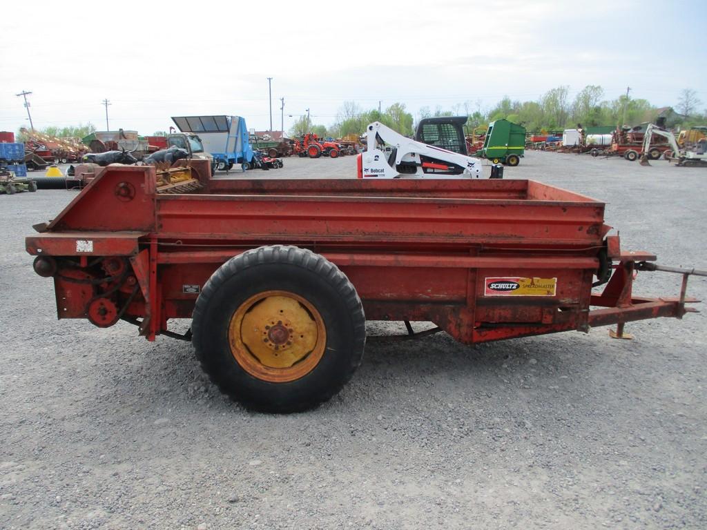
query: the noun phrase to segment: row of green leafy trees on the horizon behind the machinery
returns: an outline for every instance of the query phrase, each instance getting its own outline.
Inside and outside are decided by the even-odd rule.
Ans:
[[[604,89],[598,85],[588,85],[571,98],[570,87],[563,85],[552,88],[535,101],[513,101],[504,96],[490,109],[483,109],[481,101],[462,102],[448,109],[421,107],[418,118],[440,116],[469,117],[469,127],[485,126],[496,119],[508,119],[510,122],[525,126],[528,131],[558,131],[581,123],[583,126],[617,126],[620,124],[636,125],[653,122],[658,114],[658,107],[648,100],[633,99],[626,95],[614,100],[604,99]],[[699,112],[702,102],[695,90],[686,88],[679,96],[675,110],[682,114],[682,126],[707,124],[707,110]],[[404,135],[414,133],[415,118],[407,111],[403,103],[395,102],[385,110],[363,110],[353,101],[346,101],[339,109],[337,121],[328,128],[324,125],[309,124],[309,130],[319,136],[341,138],[349,134],[358,136],[371,122],[381,122]],[[293,136],[300,136],[307,131],[307,117],[302,117],[290,130]]]

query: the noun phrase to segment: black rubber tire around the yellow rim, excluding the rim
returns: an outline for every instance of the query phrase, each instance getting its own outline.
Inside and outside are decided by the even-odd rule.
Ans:
[[[320,312],[327,330],[325,353],[307,375],[274,383],[253,377],[233,357],[228,326],[238,307],[265,290],[287,290]],[[361,365],[366,316],[354,285],[320,254],[272,245],[247,250],[211,275],[194,306],[192,343],[216,386],[247,408],[274,413],[305,411],[330,399]]]

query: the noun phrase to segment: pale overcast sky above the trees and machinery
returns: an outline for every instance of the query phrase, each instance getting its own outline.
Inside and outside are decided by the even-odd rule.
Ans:
[[[117,6],[122,6],[119,8]],[[312,6],[308,8],[307,6]],[[314,8],[313,6],[316,6]],[[606,99],[707,108],[701,1],[4,2],[0,130],[92,122],[152,134],[170,117],[237,114],[285,129],[310,108],[332,124],[344,100],[451,110],[568,85]],[[14,23],[10,21],[14,21]],[[288,117],[293,114],[296,117]]]

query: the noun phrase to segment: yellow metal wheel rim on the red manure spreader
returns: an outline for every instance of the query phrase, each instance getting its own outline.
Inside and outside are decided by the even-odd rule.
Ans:
[[[264,381],[304,377],[322,359],[327,332],[322,316],[299,295],[268,290],[238,307],[228,326],[230,351],[243,370]]]

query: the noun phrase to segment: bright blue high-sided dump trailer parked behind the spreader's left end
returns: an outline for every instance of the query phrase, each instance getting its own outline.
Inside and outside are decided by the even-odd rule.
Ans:
[[[229,170],[240,164],[244,170],[252,166],[245,119],[240,116],[173,116],[172,121],[187,136],[198,136],[204,151],[214,157],[216,170]],[[170,144],[172,136],[170,134]]]

